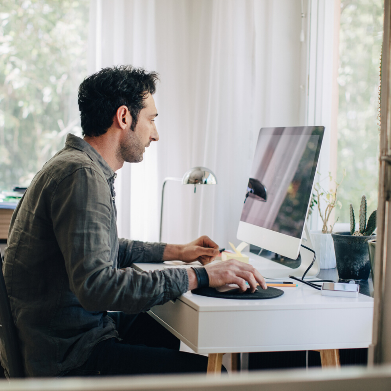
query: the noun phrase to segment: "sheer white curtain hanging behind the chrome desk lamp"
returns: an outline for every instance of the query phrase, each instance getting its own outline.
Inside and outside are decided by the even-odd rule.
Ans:
[[[160,140],[117,178],[120,236],[157,240],[164,177],[200,165],[217,186],[168,182],[162,240],[237,242],[259,129],[305,125],[300,32],[301,0],[91,1],[90,71],[132,64],[161,78]]]

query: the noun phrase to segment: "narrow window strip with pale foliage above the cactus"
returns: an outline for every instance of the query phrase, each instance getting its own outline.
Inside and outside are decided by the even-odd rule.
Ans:
[[[366,195],[368,212],[377,208],[379,175],[379,87],[383,40],[382,0],[342,0],[339,51],[338,189],[340,222],[349,221]]]

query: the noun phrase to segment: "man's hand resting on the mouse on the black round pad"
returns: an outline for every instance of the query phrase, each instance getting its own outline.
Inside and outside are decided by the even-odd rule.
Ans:
[[[252,292],[257,289],[257,282],[261,288],[267,289],[266,282],[261,276],[261,273],[248,263],[239,262],[236,260],[228,260],[218,262],[215,264],[208,264],[204,266],[209,277],[209,286],[217,288],[225,284],[237,284],[242,292],[247,289],[246,281],[250,285]],[[189,289],[195,289],[196,286],[192,286],[195,274],[194,270],[188,270],[189,272]],[[192,278],[194,277],[194,278]]]

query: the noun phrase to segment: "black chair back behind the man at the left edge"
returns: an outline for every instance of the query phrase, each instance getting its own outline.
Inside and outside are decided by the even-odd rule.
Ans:
[[[1,250],[0,259],[2,266]],[[5,354],[8,360],[8,373],[11,378],[25,377],[18,334],[14,320],[12,319],[11,306],[9,305],[2,268],[0,268],[0,271],[0,338],[4,340]]]

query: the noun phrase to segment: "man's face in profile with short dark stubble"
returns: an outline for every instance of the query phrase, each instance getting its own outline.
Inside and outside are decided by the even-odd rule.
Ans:
[[[138,121],[134,131],[127,129],[127,133],[121,141],[119,154],[121,160],[128,163],[138,163],[143,160],[145,148],[151,141],[157,141],[157,133],[154,119],[157,116],[155,101],[151,94],[144,100],[144,109],[138,114]],[[128,115],[130,116],[129,112]]]

